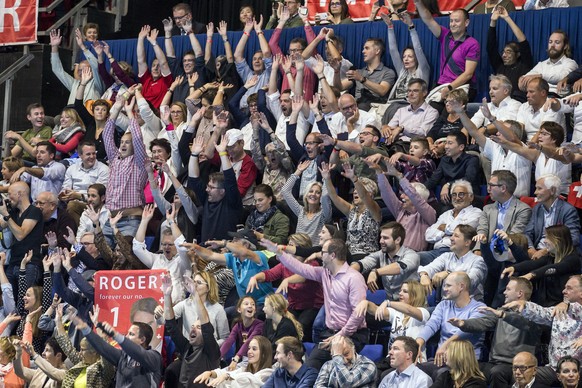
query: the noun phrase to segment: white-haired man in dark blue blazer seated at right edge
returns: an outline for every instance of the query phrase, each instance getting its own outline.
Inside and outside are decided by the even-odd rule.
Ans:
[[[576,208],[558,198],[560,178],[553,174],[541,176],[536,181],[535,193],[538,204],[534,206],[532,217],[527,224],[527,253],[532,260],[546,255],[546,228],[552,225],[566,225],[570,229],[572,242],[578,246],[580,241],[580,219]]]

